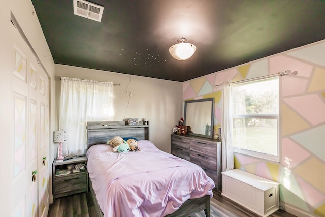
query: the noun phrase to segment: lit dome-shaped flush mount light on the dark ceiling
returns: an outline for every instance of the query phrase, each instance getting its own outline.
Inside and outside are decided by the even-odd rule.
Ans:
[[[177,39],[178,44],[174,44],[169,48],[170,54],[178,60],[185,60],[191,57],[196,51],[197,47],[193,44],[186,43],[187,39]]]

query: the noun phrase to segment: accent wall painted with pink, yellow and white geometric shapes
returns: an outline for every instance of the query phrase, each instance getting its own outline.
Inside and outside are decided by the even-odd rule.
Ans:
[[[280,79],[280,162],[234,153],[235,168],[279,182],[280,204],[293,214],[325,216],[325,40],[183,82],[183,101],[214,97],[215,133],[215,85],[286,70],[298,74]]]

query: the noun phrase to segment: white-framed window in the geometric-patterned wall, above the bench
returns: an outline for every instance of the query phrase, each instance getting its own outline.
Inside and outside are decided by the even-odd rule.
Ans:
[[[279,161],[279,78],[233,84],[235,152]]]

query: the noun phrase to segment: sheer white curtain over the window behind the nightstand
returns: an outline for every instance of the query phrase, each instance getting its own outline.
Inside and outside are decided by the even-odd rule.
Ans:
[[[68,133],[69,154],[85,154],[87,121],[111,121],[113,83],[61,77],[59,130]]]

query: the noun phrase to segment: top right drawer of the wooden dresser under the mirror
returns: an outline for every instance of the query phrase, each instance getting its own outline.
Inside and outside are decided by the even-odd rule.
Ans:
[[[201,140],[191,140],[190,150],[202,154],[203,156],[210,156],[216,161],[217,158],[217,144]]]

